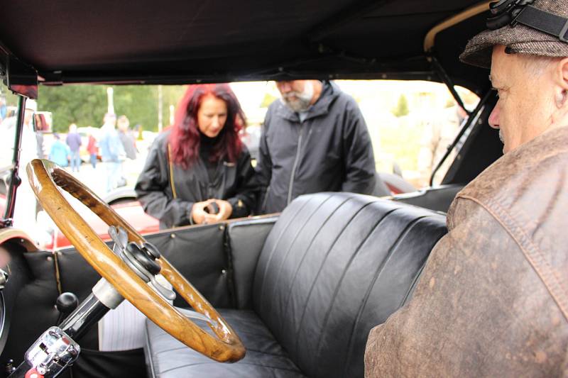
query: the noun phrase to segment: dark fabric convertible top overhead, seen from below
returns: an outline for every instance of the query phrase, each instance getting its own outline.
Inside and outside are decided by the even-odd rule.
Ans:
[[[484,1],[488,4],[488,1]],[[229,82],[285,78],[439,80],[486,89],[461,64],[487,11],[427,33],[479,0],[11,1],[0,9],[0,65],[9,57],[40,82]]]

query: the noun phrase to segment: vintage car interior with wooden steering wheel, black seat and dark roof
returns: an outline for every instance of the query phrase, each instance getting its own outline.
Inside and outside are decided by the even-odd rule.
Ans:
[[[449,169],[430,187],[383,198],[307,194],[280,214],[146,235],[62,169],[35,160],[28,166],[35,193],[74,247],[37,250],[4,217],[0,375],[24,377],[39,366],[45,377],[363,377],[369,330],[412,297],[430,251],[447,233],[444,213],[455,194],[502,155],[488,126],[496,103],[488,72],[458,58],[484,29],[488,4],[64,0],[3,6],[0,78],[21,104],[37,96],[38,85],[283,79],[426,80],[446,84],[461,106],[457,85],[481,101],[448,148],[446,157],[454,152]],[[17,191],[13,184],[6,191],[9,214]],[[107,222],[113,240],[104,243],[89,231],[60,191]],[[156,283],[158,273],[175,299],[171,287]],[[78,304],[65,293],[75,294]],[[104,350],[99,319],[122,299],[148,316],[144,346]],[[67,340],[55,357],[40,338],[48,329],[48,340]]]

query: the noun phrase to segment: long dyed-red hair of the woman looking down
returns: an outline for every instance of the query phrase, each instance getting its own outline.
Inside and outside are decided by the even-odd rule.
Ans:
[[[213,146],[210,160],[216,162],[223,157],[236,162],[243,149],[239,131],[246,118],[239,100],[229,84],[195,84],[187,87],[175,111],[175,119],[170,133],[172,160],[184,169],[190,167],[200,154],[200,130],[197,126],[197,111],[205,96],[212,95],[226,104],[226,122],[219,133],[219,141]]]

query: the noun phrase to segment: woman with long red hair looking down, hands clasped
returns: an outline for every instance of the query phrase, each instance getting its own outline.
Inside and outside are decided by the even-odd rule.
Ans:
[[[155,139],[136,194],[160,228],[247,216],[256,180],[239,139],[244,112],[228,84],[190,85],[175,121]]]

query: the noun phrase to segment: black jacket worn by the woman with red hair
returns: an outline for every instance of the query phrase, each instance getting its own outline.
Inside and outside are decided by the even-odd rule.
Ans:
[[[201,157],[189,169],[172,165],[176,192],[174,198],[168,164],[169,135],[170,132],[166,131],[155,139],[135,187],[144,211],[160,220],[160,228],[191,224],[193,204],[212,198],[225,199],[231,203],[231,218],[251,213],[258,188],[251,166],[251,155],[244,145],[235,163],[219,160],[211,180]]]

